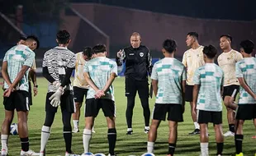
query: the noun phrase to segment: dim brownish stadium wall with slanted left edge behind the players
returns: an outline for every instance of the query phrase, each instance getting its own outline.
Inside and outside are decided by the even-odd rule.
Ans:
[[[141,34],[143,44],[151,50],[160,50],[166,38],[175,39],[178,42],[178,57],[182,57],[183,52],[187,50],[185,39],[190,31],[197,31],[202,45],[213,44],[219,47],[221,34],[233,36],[234,48],[239,48],[242,39],[252,39],[256,42],[256,21],[193,19],[93,3],[73,3],[72,7],[109,35],[112,46],[129,45],[130,34],[134,31]],[[76,27],[73,20],[67,21],[70,21],[67,23],[69,29]],[[112,56],[116,49],[111,50]],[[161,53],[153,55],[160,57]]]

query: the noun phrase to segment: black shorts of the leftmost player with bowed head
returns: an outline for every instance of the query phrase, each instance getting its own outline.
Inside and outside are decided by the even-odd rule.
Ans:
[[[29,94],[24,90],[17,90],[12,92],[9,97],[3,97],[3,105],[7,111],[13,111],[14,109],[19,111],[29,111]]]

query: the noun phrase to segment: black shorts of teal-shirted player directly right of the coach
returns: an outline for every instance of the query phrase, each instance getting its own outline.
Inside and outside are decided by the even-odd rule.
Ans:
[[[160,104],[155,103],[152,113],[154,120],[165,121],[168,112],[168,121],[183,122],[183,106],[181,104]]]

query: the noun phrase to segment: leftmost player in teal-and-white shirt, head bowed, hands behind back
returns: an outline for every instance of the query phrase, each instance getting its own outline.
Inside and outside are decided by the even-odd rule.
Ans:
[[[3,105],[5,118],[2,122],[1,155],[8,154],[7,140],[10,133],[14,110],[17,111],[18,131],[21,139],[21,155],[35,155],[29,149],[26,113],[30,110],[28,100],[28,71],[35,59],[33,50],[39,47],[39,40],[34,36],[21,44],[10,48],[3,58],[2,78],[4,80]]]

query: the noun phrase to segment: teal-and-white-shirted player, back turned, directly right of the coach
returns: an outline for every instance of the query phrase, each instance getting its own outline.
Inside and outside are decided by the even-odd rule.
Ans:
[[[185,107],[186,68],[174,58],[177,44],[173,39],[163,43],[164,58],[154,63],[151,80],[156,96],[153,119],[148,138],[148,153],[153,153],[157,129],[168,113],[168,156],[173,156],[177,142],[178,122],[183,122]]]

